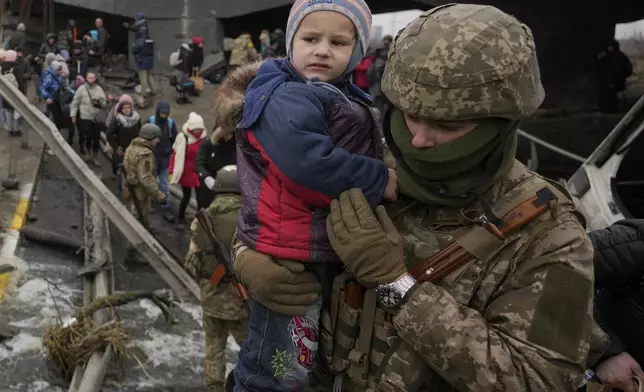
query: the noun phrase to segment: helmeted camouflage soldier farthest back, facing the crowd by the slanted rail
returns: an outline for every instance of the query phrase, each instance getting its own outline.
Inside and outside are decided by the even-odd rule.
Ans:
[[[148,216],[152,200],[165,203],[166,195],[159,189],[157,183],[157,164],[155,158],[156,145],[161,139],[161,129],[155,124],[145,124],[139,131],[139,137],[125,149],[123,168],[124,191],[127,206],[132,214],[149,229]],[[130,192],[130,186],[134,194]],[[136,198],[136,200],[134,199]],[[138,207],[137,207],[138,204]],[[137,209],[141,210],[139,216]],[[134,248],[128,248],[128,257],[133,257]]]

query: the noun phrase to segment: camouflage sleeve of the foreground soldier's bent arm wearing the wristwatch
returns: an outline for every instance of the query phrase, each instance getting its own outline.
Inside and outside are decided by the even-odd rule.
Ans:
[[[572,213],[551,225],[516,264],[509,251],[510,272],[482,313],[426,282],[395,316],[403,344],[455,389],[576,391],[593,325],[593,248]]]

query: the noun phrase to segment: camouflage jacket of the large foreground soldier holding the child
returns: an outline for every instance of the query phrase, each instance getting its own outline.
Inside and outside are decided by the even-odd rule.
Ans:
[[[534,196],[535,186],[548,184],[515,162],[483,197],[497,209],[502,198],[519,204]],[[366,389],[575,391],[591,332],[598,332],[592,319],[593,247],[583,217],[561,199],[556,215],[545,213],[506,238],[487,262],[475,259],[438,284],[419,284],[385,323],[392,329],[389,349],[382,365],[370,368]],[[457,211],[409,201],[388,211],[410,270],[444,248],[463,225]],[[593,345],[601,350],[605,336],[596,336]],[[330,390],[332,381],[318,372],[311,390]],[[343,389],[363,388],[345,377]]]

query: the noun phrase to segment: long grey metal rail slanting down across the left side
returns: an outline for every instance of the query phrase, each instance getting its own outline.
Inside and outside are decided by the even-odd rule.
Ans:
[[[200,299],[197,283],[87,167],[51,120],[30,104],[27,98],[4,77],[0,77],[0,95],[40,134],[72,177],[170,288],[182,298],[192,295]]]

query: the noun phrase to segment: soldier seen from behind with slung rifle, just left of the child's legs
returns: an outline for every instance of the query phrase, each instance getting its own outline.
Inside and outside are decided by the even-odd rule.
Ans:
[[[217,197],[206,211],[215,235],[223,244],[229,245],[237,228],[237,215],[241,208],[237,167],[229,165],[220,169],[212,190],[217,193]],[[210,391],[223,392],[226,382],[226,341],[229,334],[237,344],[248,337],[248,310],[228,278],[224,278],[217,287],[212,285],[210,277],[218,264],[211,251],[212,245],[197,219],[192,222],[190,229],[192,238],[185,267],[201,287],[203,327],[206,333],[206,383]]]

